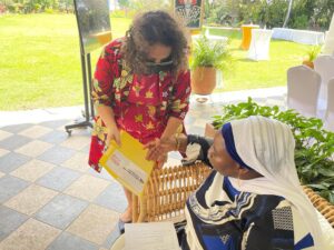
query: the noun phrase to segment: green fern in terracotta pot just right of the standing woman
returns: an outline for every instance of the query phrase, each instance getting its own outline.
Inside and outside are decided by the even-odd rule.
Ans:
[[[216,87],[216,70],[227,70],[230,60],[228,40],[210,41],[204,34],[195,40],[190,58],[193,92],[210,94]]]

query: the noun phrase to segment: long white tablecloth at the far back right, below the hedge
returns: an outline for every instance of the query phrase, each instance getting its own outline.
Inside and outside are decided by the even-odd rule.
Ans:
[[[310,30],[294,30],[285,28],[274,28],[273,39],[283,39],[304,44],[323,44],[325,41],[324,32],[310,31]]]

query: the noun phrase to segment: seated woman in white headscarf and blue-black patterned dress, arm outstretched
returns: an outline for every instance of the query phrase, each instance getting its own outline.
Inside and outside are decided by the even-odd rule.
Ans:
[[[235,120],[214,141],[183,134],[149,143],[147,159],[173,150],[187,153],[187,146],[197,147],[196,158],[215,171],[186,203],[181,249],[326,249],[298,181],[286,124],[264,117]]]

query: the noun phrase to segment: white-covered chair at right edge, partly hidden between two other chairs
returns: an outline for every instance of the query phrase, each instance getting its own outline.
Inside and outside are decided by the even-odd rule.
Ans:
[[[314,60],[314,70],[322,77],[322,84],[318,94],[317,108],[324,111],[327,106],[327,84],[330,79],[334,78],[334,57],[320,56]]]

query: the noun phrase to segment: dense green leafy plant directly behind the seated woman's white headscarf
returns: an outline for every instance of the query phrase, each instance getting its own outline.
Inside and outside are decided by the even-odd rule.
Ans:
[[[248,98],[247,102],[224,106],[223,116],[215,116],[213,126],[218,129],[249,116],[274,118],[289,126],[296,141],[295,163],[302,184],[334,203],[334,133],[323,129],[322,120],[305,118],[291,109],[281,111],[277,106],[259,106]]]

